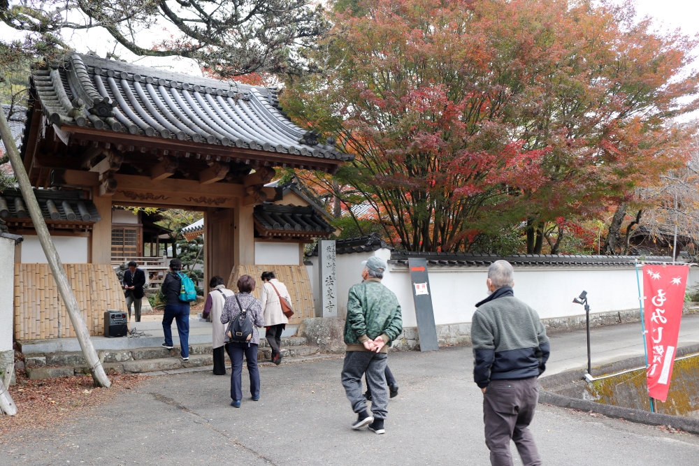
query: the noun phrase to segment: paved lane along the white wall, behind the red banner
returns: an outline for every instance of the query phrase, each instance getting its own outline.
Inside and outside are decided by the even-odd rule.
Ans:
[[[587,367],[587,338],[584,331],[554,333],[547,374]],[[592,365],[603,365],[643,355],[641,323],[593,328],[591,330]],[[699,314],[684,316],[679,328],[679,347],[699,343]]]

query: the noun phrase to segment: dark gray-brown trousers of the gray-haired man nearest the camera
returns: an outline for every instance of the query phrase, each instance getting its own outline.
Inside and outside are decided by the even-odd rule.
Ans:
[[[537,377],[521,380],[491,380],[483,395],[485,444],[493,466],[512,466],[510,439],[524,466],[541,464],[529,423],[539,400]]]

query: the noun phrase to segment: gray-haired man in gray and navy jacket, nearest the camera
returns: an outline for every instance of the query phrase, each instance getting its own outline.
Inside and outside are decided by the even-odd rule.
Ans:
[[[476,305],[471,339],[490,463],[512,466],[512,439],[524,466],[538,466],[541,458],[529,423],[539,399],[537,379],[549,358],[549,339],[536,311],[514,297],[510,263],[491,264],[487,286],[490,296]]]

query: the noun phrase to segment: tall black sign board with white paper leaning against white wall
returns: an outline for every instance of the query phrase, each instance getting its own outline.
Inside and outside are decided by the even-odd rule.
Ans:
[[[420,335],[420,351],[435,351],[439,349],[439,345],[437,343],[435,313],[432,307],[430,279],[427,276],[427,261],[419,257],[411,257],[408,259],[408,267],[410,267],[412,300],[415,302],[417,332]]]

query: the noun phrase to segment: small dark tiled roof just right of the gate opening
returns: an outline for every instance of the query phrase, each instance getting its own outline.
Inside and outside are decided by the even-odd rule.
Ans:
[[[256,205],[253,218],[263,237],[318,238],[328,237],[335,231],[310,205]]]

